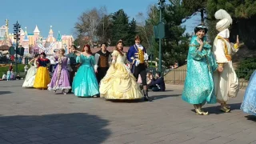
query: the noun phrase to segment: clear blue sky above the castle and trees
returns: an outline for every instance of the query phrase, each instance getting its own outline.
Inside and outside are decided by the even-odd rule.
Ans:
[[[150,4],[158,0],[2,0],[0,13],[0,26],[5,25],[6,18],[9,19],[9,32],[13,32],[13,24],[18,21],[22,29],[27,27],[28,33],[33,33],[35,26],[41,31],[41,35],[48,36],[50,26],[54,30],[54,37],[58,31],[61,34],[74,34],[74,24],[82,12],[94,7],[106,6],[107,12],[114,13],[123,9],[130,18],[135,18],[138,12],[146,16]],[[192,32],[194,18],[187,21],[186,32]]]

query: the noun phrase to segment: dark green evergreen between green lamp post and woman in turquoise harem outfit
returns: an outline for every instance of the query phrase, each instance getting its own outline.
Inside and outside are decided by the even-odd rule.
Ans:
[[[187,12],[182,6],[182,0],[170,0],[166,5],[164,18],[166,19],[167,38],[164,41],[163,60],[166,66],[178,62],[181,66],[185,64],[188,53],[189,34],[184,34],[186,28],[182,27],[182,20],[186,18]]]

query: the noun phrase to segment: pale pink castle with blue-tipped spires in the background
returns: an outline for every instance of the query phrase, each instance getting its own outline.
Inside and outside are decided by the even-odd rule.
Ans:
[[[15,45],[14,34],[9,31],[8,20],[6,19],[6,25],[0,27],[0,46],[13,46]],[[42,51],[46,54],[54,54],[55,50],[65,49],[68,53],[68,49],[73,45],[74,38],[72,35],[62,35],[58,31],[57,38],[54,37],[54,30],[50,26],[49,34],[47,38],[43,38],[40,35],[38,26],[35,26],[33,33],[29,33],[26,30],[21,29],[19,46],[24,47],[25,54],[36,54]]]

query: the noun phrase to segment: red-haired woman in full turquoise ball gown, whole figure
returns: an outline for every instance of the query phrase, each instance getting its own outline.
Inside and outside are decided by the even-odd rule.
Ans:
[[[72,92],[78,97],[93,97],[99,94],[99,86],[94,72],[94,56],[91,54],[90,46],[84,46],[83,52],[78,52],[76,58],[80,63],[77,74],[72,83]]]

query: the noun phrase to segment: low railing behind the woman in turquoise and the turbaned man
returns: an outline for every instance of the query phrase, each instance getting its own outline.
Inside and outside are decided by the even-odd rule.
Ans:
[[[150,70],[153,71],[154,70]],[[166,74],[164,74],[165,82],[172,85],[183,85],[186,79],[186,69],[173,69],[173,70],[164,70]],[[239,87],[240,89],[246,89],[248,86],[248,82],[250,79],[250,75],[254,72],[254,70],[235,70],[239,79]]]

